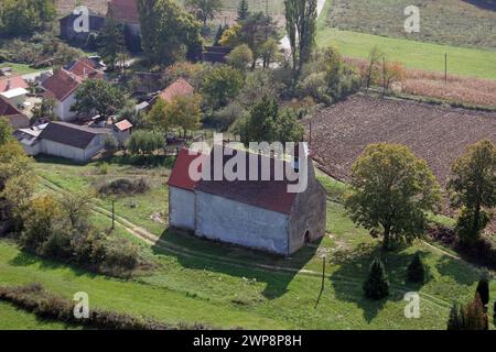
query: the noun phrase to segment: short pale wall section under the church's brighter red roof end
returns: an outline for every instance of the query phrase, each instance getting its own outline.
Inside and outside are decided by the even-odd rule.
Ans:
[[[195,229],[195,194],[177,187],[169,188],[171,226],[180,229]]]

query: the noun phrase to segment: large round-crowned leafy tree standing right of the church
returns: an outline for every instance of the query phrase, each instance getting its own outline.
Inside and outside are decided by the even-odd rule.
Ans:
[[[427,212],[441,200],[440,185],[425,161],[400,144],[371,144],[352,168],[353,193],[346,209],[355,223],[382,235],[384,249],[392,241],[421,237]]]

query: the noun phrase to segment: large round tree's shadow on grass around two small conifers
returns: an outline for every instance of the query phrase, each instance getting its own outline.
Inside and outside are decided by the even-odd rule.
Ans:
[[[424,257],[428,252],[420,251]],[[369,323],[377,317],[388,301],[402,301],[408,292],[418,292],[431,279],[428,267],[425,280],[422,284],[407,282],[407,267],[414,253],[405,253],[402,249],[382,252],[379,245],[362,244],[351,251],[339,251],[333,254],[332,265],[338,265],[330,277],[338,300],[353,302],[363,311],[364,319]],[[389,296],[373,300],[365,297],[363,285],[374,257],[380,257],[389,279]],[[407,304],[407,301],[405,301]]]

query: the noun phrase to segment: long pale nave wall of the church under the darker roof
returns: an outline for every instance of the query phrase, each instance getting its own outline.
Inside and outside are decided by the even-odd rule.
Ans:
[[[288,254],[289,217],[196,191],[196,234],[211,240]]]

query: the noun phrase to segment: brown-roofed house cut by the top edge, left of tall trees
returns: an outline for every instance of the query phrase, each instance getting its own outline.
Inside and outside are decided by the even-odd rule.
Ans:
[[[110,0],[107,18],[123,25],[126,46],[131,53],[141,51],[141,24],[136,0]]]

